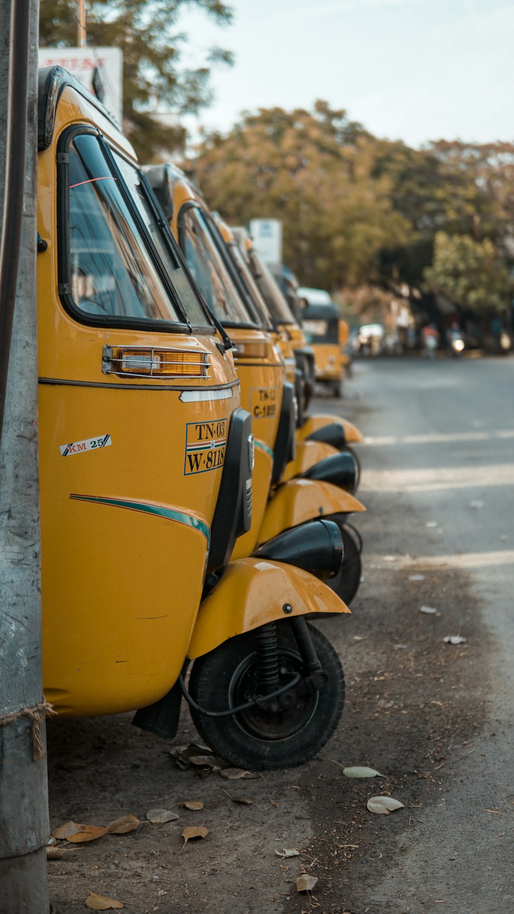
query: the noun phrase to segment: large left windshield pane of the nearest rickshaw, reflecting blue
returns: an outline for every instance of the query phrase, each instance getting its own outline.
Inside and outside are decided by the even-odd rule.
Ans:
[[[98,136],[69,145],[68,271],[79,314],[101,323],[127,319],[184,323],[155,269],[142,233]]]

